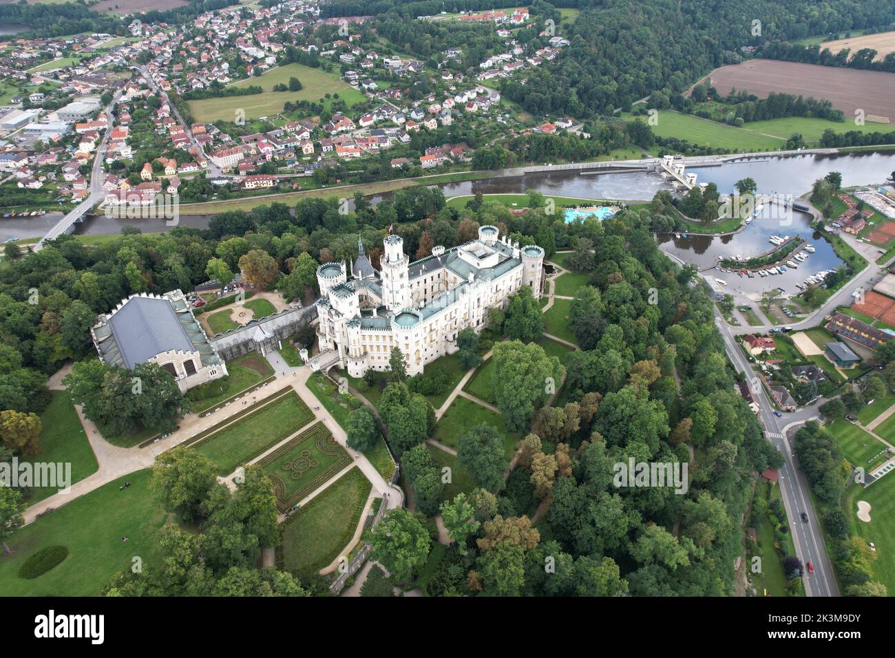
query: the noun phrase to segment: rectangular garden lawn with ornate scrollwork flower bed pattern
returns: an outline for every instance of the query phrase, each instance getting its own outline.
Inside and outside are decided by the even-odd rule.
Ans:
[[[351,457],[323,423],[311,426],[258,462],[274,483],[281,512],[334,477]]]

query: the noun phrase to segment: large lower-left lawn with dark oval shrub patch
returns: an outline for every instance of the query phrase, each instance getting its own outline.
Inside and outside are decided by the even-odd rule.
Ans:
[[[158,568],[158,530],[167,515],[149,493],[150,475],[145,469],[104,484],[13,534],[7,540],[13,553],[0,556],[0,593],[95,596],[115,573],[132,567],[134,556],[143,568]],[[125,481],[131,486],[119,491]],[[22,562],[55,544],[68,547],[61,564],[33,580],[19,577]]]

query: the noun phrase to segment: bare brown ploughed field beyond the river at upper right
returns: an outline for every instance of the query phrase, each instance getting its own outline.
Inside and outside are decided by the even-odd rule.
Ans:
[[[895,119],[895,73],[754,59],[721,66],[708,80],[722,96],[730,90],[746,90],[759,98],[771,91],[826,98],[847,119],[861,109],[866,116]],[[661,126],[661,114],[660,114]]]

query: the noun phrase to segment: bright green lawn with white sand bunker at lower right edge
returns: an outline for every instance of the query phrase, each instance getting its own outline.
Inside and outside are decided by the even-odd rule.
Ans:
[[[870,503],[870,521],[857,517],[857,501]],[[875,580],[895,595],[895,476],[891,473],[866,489],[855,487],[845,498],[845,511],[852,534],[876,544],[873,560]]]

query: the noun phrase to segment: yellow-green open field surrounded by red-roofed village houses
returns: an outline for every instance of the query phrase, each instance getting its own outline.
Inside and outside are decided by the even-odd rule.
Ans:
[[[296,77],[302,82],[301,91],[273,91],[275,84],[288,84],[290,77]],[[355,105],[363,100],[363,94],[355,90],[344,81],[340,81],[335,75],[324,73],[320,69],[314,69],[303,64],[286,64],[260,75],[257,78],[248,78],[234,82],[234,87],[259,86],[264,90],[262,94],[251,96],[231,96],[226,98],[206,98],[204,100],[189,101],[190,111],[196,121],[211,122],[217,119],[233,121],[238,110],[245,112],[246,119],[256,119],[260,116],[276,115],[283,111],[286,101],[298,100],[319,101],[326,94],[338,94],[349,105]]]

